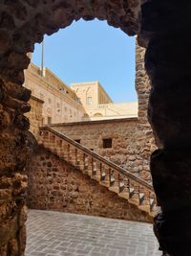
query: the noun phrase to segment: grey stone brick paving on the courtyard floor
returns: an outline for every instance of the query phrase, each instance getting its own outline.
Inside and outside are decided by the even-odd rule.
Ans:
[[[152,225],[30,210],[26,256],[160,256]]]

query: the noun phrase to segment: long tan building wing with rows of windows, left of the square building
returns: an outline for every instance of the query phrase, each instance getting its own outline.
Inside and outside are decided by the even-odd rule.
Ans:
[[[59,80],[52,71],[30,64],[25,71],[25,86],[32,90],[32,96],[44,102],[42,105],[42,125],[81,121],[84,107],[74,91]]]

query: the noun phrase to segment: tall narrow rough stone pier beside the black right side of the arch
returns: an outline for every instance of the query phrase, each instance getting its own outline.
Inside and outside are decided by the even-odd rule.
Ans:
[[[136,90],[138,92],[138,125],[135,130],[135,154],[138,155],[138,166],[142,171],[140,176],[149,180],[150,155],[157,149],[153,130],[148,122],[147,109],[151,83],[144,67],[145,49],[136,44]],[[136,168],[136,166],[135,166]]]

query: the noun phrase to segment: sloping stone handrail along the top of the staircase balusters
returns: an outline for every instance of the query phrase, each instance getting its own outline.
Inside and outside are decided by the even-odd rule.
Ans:
[[[84,146],[78,144],[77,142],[75,142],[74,140],[70,139],[68,136],[54,130],[53,128],[50,128],[48,126],[44,126],[40,128],[41,130],[47,130],[52,132],[54,135],[60,137],[61,139],[67,141],[68,143],[72,144],[74,147],[76,147],[77,149],[81,150],[81,151],[85,151],[87,154],[91,155],[92,157],[96,158],[96,160],[104,163],[105,165],[108,165],[110,168],[112,169],[116,169],[120,174],[122,175],[126,175],[127,177],[137,181],[140,185],[146,187],[150,192],[154,193],[154,189],[152,187],[152,185],[150,185],[149,183],[147,183],[145,180],[143,180],[142,178],[133,175],[132,173],[130,173],[129,171],[117,166],[117,164],[111,162],[110,160],[105,159],[103,156],[99,155],[98,153],[94,152],[94,151],[90,151],[89,149],[85,148]]]

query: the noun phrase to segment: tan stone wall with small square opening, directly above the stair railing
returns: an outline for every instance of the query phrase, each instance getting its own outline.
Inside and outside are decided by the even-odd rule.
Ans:
[[[116,119],[53,125],[52,128],[74,140],[79,139],[80,144],[86,148],[98,152],[121,167],[128,168],[128,160],[136,159],[131,150],[134,147],[132,142],[137,122],[137,118]],[[112,138],[111,149],[103,148],[105,138]]]

